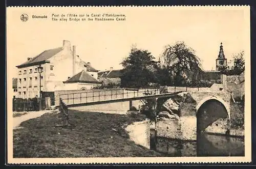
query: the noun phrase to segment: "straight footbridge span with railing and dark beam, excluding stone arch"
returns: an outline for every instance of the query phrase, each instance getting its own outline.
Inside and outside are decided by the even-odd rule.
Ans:
[[[60,94],[59,98],[67,107],[87,106],[114,102],[145,100],[151,98],[172,97],[180,90],[161,91],[159,88],[96,90],[78,93]],[[55,99],[57,100],[57,99]]]

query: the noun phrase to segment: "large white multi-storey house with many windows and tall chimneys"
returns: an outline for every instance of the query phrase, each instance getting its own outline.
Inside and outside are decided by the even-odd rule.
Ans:
[[[71,44],[67,40],[63,41],[62,47],[45,50],[34,58],[28,58],[27,62],[16,67],[18,68],[18,98],[39,96],[40,88],[41,91],[45,92],[66,90],[67,87],[63,82],[81,71],[86,71],[86,74],[89,75],[87,77],[90,78],[79,83],[87,88],[99,85],[98,70],[94,69],[90,63],[82,61],[79,55],[76,55],[76,46],[71,49]],[[39,69],[40,67],[41,69]],[[40,79],[39,72],[41,72]],[[79,87],[83,88],[82,85]]]

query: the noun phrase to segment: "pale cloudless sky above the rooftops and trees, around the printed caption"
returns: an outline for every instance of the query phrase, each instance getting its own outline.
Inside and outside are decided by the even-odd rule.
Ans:
[[[77,55],[98,70],[121,69],[120,63],[129,55],[133,44],[150,51],[158,60],[164,46],[174,45],[176,41],[184,41],[196,51],[204,70],[215,70],[221,42],[228,61],[232,54],[246,50],[249,44],[244,10],[239,8],[70,8],[70,13],[121,13],[126,15],[126,20],[60,22],[49,17],[67,10],[8,9],[7,62],[13,70],[27,58],[62,46],[63,40],[75,45]],[[21,22],[19,17],[24,11],[29,17],[46,14],[49,19]]]

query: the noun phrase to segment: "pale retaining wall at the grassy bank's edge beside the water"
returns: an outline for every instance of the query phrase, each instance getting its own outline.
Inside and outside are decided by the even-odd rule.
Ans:
[[[137,145],[150,149],[150,121],[134,122],[126,127],[130,139]]]

